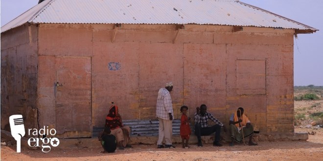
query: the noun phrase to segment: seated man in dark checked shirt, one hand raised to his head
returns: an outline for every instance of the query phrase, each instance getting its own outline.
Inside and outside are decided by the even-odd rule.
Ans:
[[[201,108],[201,112],[200,112]],[[220,133],[221,128],[223,127],[224,132],[227,132],[227,128],[219,120],[213,117],[212,114],[207,112],[207,105],[202,104],[196,108],[196,113],[194,114],[195,122],[195,135],[197,136],[197,146],[203,146],[201,141],[201,136],[210,135],[215,132],[215,138],[213,141],[213,146],[222,146],[220,143]],[[215,122],[216,125],[208,126],[208,119]]]

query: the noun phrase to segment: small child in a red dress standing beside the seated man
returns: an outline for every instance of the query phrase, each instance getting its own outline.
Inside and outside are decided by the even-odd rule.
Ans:
[[[182,138],[183,148],[189,148],[188,140],[189,140],[189,135],[191,134],[191,129],[189,127],[189,122],[188,122],[191,118],[187,118],[186,116],[187,110],[188,110],[187,106],[181,107],[182,117],[181,117],[180,135]],[[184,141],[185,141],[185,144],[184,144]]]

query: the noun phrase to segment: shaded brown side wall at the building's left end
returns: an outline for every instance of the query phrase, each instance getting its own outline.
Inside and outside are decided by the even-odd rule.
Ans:
[[[1,33],[1,129],[10,131],[14,114],[23,115],[26,127],[38,128],[37,41],[35,25]]]

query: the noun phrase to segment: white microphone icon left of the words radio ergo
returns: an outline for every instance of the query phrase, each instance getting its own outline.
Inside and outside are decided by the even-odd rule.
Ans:
[[[9,117],[11,135],[17,141],[17,153],[21,152],[21,139],[23,138],[24,125],[23,125],[23,115],[11,115]]]

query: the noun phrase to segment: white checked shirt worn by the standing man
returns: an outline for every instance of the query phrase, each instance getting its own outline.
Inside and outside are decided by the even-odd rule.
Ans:
[[[161,88],[158,91],[156,117],[163,120],[169,120],[168,113],[172,113],[174,118],[172,98],[166,88]]]

